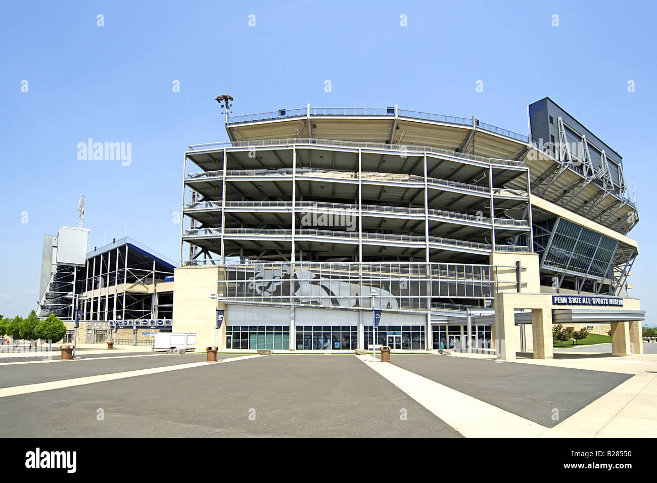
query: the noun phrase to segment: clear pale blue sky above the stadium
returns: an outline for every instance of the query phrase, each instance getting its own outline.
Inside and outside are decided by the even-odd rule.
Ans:
[[[76,225],[81,195],[91,246],[127,221],[129,236],[177,259],[183,151],[227,140],[219,94],[235,114],[399,104],[519,133],[525,99],[549,96],[623,156],[641,217],[631,295],[655,325],[655,16],[648,1],[5,3],[0,313],[36,308],[43,234]],[[131,165],[78,160],[90,137],[132,143]]]

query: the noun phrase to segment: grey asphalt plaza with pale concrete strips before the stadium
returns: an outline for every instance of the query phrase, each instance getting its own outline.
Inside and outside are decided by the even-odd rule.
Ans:
[[[176,426],[188,436],[196,434],[187,433],[191,428],[214,436],[296,436],[298,428],[285,424],[286,415],[291,414],[290,403],[294,402],[297,423],[310,424],[319,433],[330,423],[344,426],[342,429],[352,436],[371,436],[371,428],[377,427],[371,426],[374,421],[363,427],[358,421],[371,415],[368,407],[378,407],[377,421],[379,426],[388,425],[389,436],[657,437],[657,354],[569,352],[552,360],[520,358],[501,363],[426,353],[393,354],[392,363],[382,363],[371,355],[234,353],[219,354],[219,364],[237,362],[221,366],[231,371],[208,372],[200,369],[214,365],[204,362],[205,354],[166,356],[143,351],[139,346],[112,351],[103,346],[86,347],[79,351],[79,361],[62,363],[16,354],[0,357],[0,400],[6,411],[20,415],[12,436],[30,434],[25,429],[29,425],[22,420],[28,421],[37,411],[30,405],[34,399],[30,394],[35,392],[42,393],[39,401],[52,400],[53,407],[62,411],[62,421],[72,424],[66,426],[66,434],[76,436],[82,430],[67,412],[71,404],[93,401],[102,394],[109,398],[104,403],[108,407],[124,407],[131,398],[143,400],[146,395],[167,394],[177,384],[183,394],[196,394],[196,403],[207,405],[207,415],[223,411],[223,421],[227,421],[236,411],[244,412],[244,398],[248,397],[252,398],[248,407],[260,407],[266,421],[256,431],[256,426],[247,429],[239,422],[204,428],[199,416],[189,424]],[[43,370],[36,369],[37,363],[47,365]],[[58,391],[64,388],[68,388],[66,396]],[[62,397],[71,400],[66,407],[60,407]],[[217,398],[222,402],[221,409],[217,409]],[[167,394],[166,404],[173,418],[184,411],[185,400]],[[355,417],[354,413],[353,421],[344,425],[336,415],[345,408],[357,408],[363,414]],[[553,408],[561,413],[556,421],[549,417]],[[399,411],[413,413],[413,423],[405,425]],[[129,419],[129,425],[122,426],[125,434],[143,435],[140,431],[146,430],[146,426],[139,426],[145,424],[139,422],[139,413],[117,417]],[[152,417],[164,416],[158,412]],[[171,424],[170,417],[164,419]],[[99,428],[85,426],[88,430]]]

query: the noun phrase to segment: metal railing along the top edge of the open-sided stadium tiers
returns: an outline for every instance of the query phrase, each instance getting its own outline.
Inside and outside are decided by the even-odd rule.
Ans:
[[[254,139],[253,141],[223,141],[220,143],[204,143],[198,145],[190,145],[189,149],[193,151],[198,150],[212,150],[224,148],[258,148],[258,147],[290,147],[292,145],[312,145],[313,147],[340,147],[351,149],[376,149],[387,151],[400,151],[400,152],[427,152],[430,154],[439,154],[442,156],[451,156],[453,158],[461,158],[470,161],[481,162],[484,164],[495,164],[501,166],[520,166],[524,167],[524,163],[518,160],[502,159],[502,158],[486,158],[484,156],[477,156],[476,154],[466,154],[464,152],[456,152],[449,149],[442,149],[431,146],[421,145],[399,145],[387,143],[371,143],[366,141],[338,141],[336,139],[315,139],[309,137],[290,137],[286,139]]]

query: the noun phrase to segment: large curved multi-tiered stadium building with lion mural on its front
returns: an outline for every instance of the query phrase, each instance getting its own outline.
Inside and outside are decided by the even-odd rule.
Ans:
[[[230,141],[185,152],[176,325],[214,342],[214,292],[228,349],[551,357],[548,310],[631,340],[622,158],[549,98],[529,114],[531,136],[397,106],[226,110]],[[626,302],[558,308],[555,294]]]

